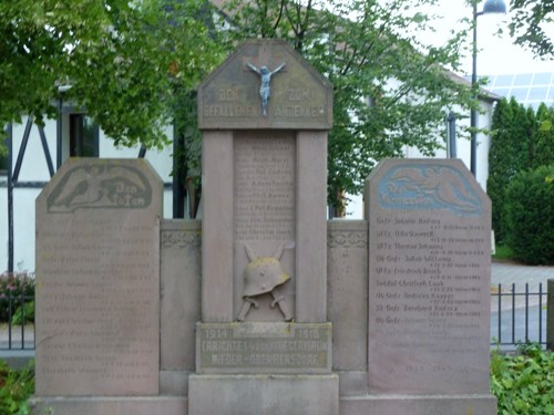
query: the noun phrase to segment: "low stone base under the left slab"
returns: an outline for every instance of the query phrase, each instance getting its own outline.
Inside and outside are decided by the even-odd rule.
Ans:
[[[184,396],[55,396],[29,401],[32,415],[186,415]]]

